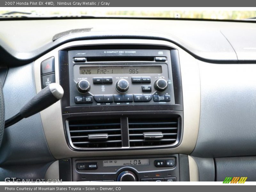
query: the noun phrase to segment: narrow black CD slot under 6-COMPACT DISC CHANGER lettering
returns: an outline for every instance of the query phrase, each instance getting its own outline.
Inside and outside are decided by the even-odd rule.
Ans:
[[[97,61],[154,61],[154,57],[87,57],[87,62]]]

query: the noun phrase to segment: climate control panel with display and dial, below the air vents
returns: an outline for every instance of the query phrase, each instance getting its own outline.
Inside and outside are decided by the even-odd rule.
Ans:
[[[73,181],[179,181],[179,156],[73,158]]]

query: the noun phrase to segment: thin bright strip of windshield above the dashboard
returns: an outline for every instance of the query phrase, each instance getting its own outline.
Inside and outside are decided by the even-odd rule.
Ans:
[[[180,19],[243,20],[256,18],[256,11],[0,11],[13,17],[150,17]]]

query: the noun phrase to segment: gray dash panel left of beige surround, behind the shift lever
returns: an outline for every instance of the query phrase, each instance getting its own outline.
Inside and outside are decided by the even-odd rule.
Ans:
[[[4,87],[5,119],[17,114],[36,95],[34,63],[9,68]],[[53,161],[37,113],[6,128],[0,148],[1,167],[43,164]]]

